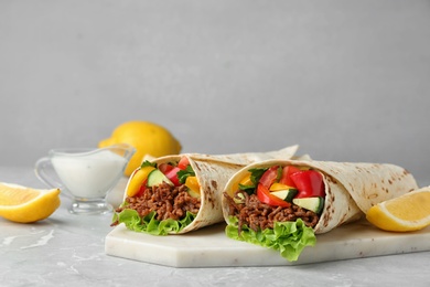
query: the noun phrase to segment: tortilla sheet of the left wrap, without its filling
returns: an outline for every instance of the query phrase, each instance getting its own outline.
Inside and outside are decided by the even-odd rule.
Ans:
[[[160,166],[161,163],[179,162],[182,157],[187,157],[200,185],[201,206],[198,209],[197,214],[195,214],[194,220],[184,227],[168,231],[166,234],[183,234],[207,225],[223,222],[224,216],[221,202],[222,192],[224,190],[225,184],[235,172],[237,172],[245,166],[256,161],[276,158],[292,158],[297,150],[298,146],[291,146],[281,150],[269,152],[247,152],[217,156],[202,153],[182,153],[165,156],[151,160],[152,163],[157,163],[158,166]],[[128,189],[130,180],[126,187],[126,191]],[[127,193],[125,192],[123,199],[126,200],[126,198]],[[136,228],[135,231],[146,232],[144,227],[140,227],[141,226],[139,226],[139,228]],[[160,232],[158,234],[161,235],[164,233]]]

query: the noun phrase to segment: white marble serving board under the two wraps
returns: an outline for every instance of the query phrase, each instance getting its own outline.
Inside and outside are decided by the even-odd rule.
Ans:
[[[226,237],[225,224],[183,235],[154,236],[123,224],[105,241],[105,252],[172,267],[280,266],[430,251],[430,227],[410,233],[384,232],[368,222],[355,222],[316,236],[299,261],[288,262],[276,251]]]

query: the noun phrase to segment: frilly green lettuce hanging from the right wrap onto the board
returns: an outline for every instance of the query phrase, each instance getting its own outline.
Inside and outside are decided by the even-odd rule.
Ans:
[[[226,235],[233,240],[279,251],[281,256],[289,262],[297,261],[304,247],[314,246],[316,243],[312,227],[307,226],[301,219],[295,222],[275,222],[272,230],[266,228],[257,232],[244,224],[239,235],[238,219],[229,216]]]

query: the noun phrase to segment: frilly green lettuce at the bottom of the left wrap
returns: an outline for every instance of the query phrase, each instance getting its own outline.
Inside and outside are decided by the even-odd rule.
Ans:
[[[126,209],[114,214],[114,222],[125,223],[127,228],[135,232],[143,232],[152,235],[168,235],[169,233],[178,233],[185,226],[192,223],[195,214],[186,212],[184,219],[175,221],[172,219],[158,221],[157,213],[152,211],[147,216],[141,217],[136,210]]]

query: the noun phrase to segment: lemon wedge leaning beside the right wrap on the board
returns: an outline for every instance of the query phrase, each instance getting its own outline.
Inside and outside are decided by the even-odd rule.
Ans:
[[[366,219],[385,231],[408,232],[430,225],[430,187],[372,206]]]

